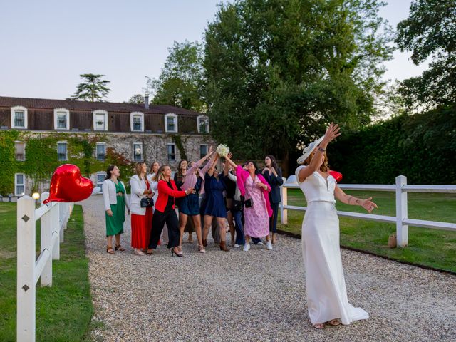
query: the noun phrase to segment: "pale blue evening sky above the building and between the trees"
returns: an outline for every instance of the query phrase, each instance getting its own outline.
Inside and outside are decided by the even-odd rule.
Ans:
[[[219,0],[0,0],[0,96],[64,99],[81,73],[110,81],[107,100],[123,102],[158,77],[173,41],[202,41]],[[380,12],[395,28],[410,0]],[[411,53],[395,51],[386,79],[418,76]]]

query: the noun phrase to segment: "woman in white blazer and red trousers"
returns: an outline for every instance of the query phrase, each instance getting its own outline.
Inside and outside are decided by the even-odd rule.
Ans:
[[[131,246],[135,254],[144,255],[150,239],[152,229],[152,207],[142,208],[141,199],[152,198],[154,192],[146,177],[147,165],[145,162],[135,164],[135,175],[130,178],[131,186]],[[150,253],[151,254],[151,253]]]

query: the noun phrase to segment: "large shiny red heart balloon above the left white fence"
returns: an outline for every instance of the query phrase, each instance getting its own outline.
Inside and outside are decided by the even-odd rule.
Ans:
[[[93,183],[81,176],[79,167],[64,164],[56,168],[51,179],[51,191],[48,202],[78,202],[92,195]]]

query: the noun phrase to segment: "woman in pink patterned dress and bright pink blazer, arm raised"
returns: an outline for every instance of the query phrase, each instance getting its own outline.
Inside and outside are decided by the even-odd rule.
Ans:
[[[266,237],[266,248],[271,250],[272,243],[269,239],[269,217],[272,215],[269,203],[271,186],[259,173],[260,170],[255,162],[247,162],[247,170],[244,170],[232,162],[230,155],[225,159],[236,169],[237,185],[241,195],[245,197],[244,251],[247,252],[250,249],[250,237]]]

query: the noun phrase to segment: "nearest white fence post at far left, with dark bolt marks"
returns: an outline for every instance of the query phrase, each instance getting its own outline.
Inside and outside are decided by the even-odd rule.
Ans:
[[[35,200],[17,201],[17,341],[35,341]]]

